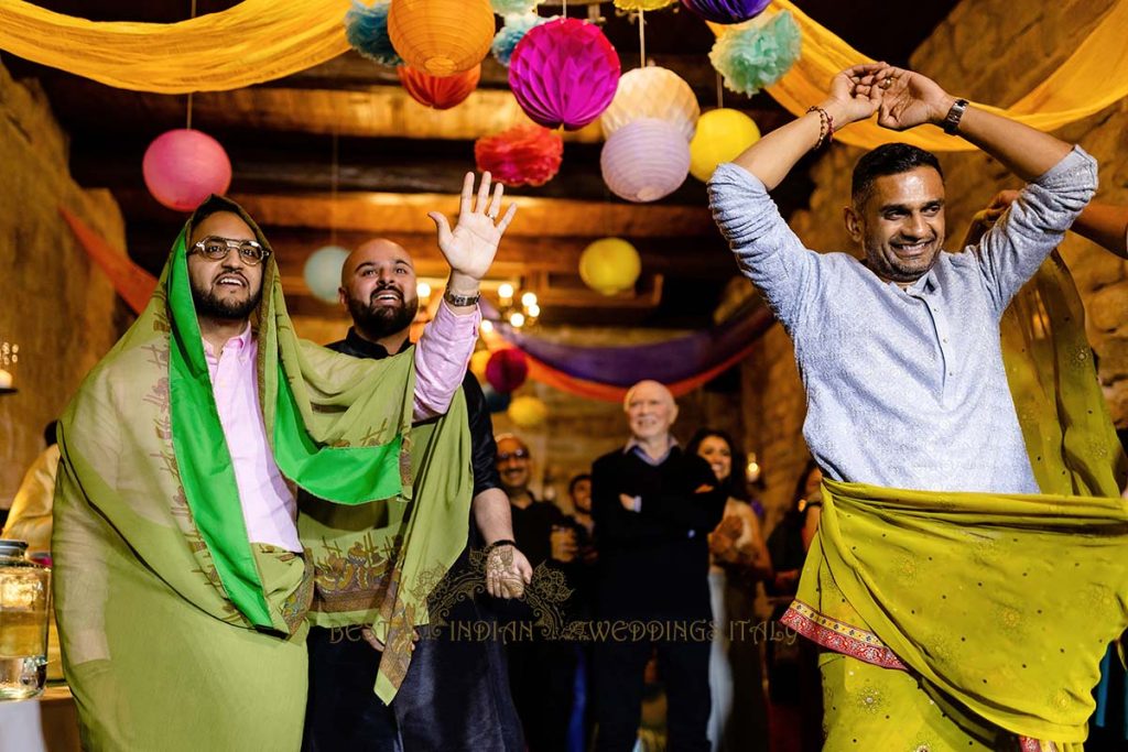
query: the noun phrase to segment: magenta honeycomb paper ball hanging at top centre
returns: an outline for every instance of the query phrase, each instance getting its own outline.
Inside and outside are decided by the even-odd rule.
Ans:
[[[521,109],[550,129],[575,131],[594,121],[618,82],[615,47],[598,26],[576,18],[530,29],[509,63],[509,86]]]

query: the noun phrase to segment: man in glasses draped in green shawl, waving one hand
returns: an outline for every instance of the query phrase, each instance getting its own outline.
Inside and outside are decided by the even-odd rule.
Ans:
[[[431,214],[446,301],[380,362],[297,338],[270,245],[237,204],[212,196],[188,219],[60,425],[55,610],[87,749],[299,749],[316,546],[299,540],[299,487],[363,510],[380,539],[389,584],[371,628],[395,687],[466,540],[458,387],[515,210],[499,221],[501,201],[488,172],[475,200],[469,174],[453,230]]]

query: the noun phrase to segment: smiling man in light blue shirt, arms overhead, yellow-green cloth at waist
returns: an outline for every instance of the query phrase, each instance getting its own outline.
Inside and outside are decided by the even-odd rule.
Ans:
[[[874,114],[942,126],[1028,185],[949,253],[938,161],[882,145],[844,212],[864,260],[811,251],[767,192]],[[839,73],[711,180],[717,224],[794,342],[827,477],[784,619],[823,648],[826,750],[1081,749],[1128,623],[1120,453],[1078,301],[1041,287],[1007,315],[1005,360],[1001,322],[1095,187],[1079,148],[884,63]]]

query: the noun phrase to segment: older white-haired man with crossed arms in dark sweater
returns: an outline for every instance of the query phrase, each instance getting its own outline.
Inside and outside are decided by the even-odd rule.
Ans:
[[[631,439],[591,468],[591,515],[599,567],[600,622],[645,623],[594,647],[597,750],[634,749],[643,673],[656,648],[669,701],[671,750],[708,750],[712,609],[708,533],[726,494],[708,463],[681,451],[670,427],[678,406],[656,381],[640,381],[623,402]],[[649,626],[662,625],[660,634]]]

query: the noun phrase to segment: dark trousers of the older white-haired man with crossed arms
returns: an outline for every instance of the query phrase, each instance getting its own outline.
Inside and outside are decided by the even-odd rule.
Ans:
[[[710,643],[606,642],[597,643],[594,649],[598,752],[634,749],[642,718],[643,674],[654,648],[666,687],[667,749],[670,752],[710,749],[706,735]]]

